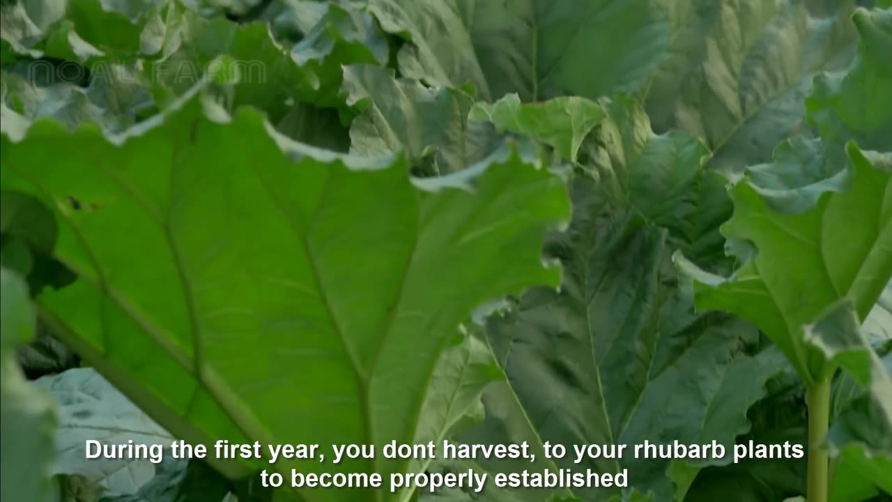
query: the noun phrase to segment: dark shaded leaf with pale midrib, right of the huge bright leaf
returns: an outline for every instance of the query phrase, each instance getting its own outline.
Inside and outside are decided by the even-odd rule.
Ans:
[[[576,183],[574,223],[550,247],[565,265],[560,292],[533,289],[488,326],[526,416],[542,440],[571,451],[574,444],[645,439],[716,440],[731,448],[749,429],[747,409],[764,396],[765,381],[780,367],[741,353],[757,336],[747,324],[694,314],[690,295],[675,289],[665,270],[671,249],[665,230],[644,227],[631,214],[611,214],[596,197],[580,198],[595,190]],[[601,473],[627,468],[630,486],[669,497],[668,461],[626,453],[622,461],[556,462]],[[611,490],[574,494],[597,500]]]

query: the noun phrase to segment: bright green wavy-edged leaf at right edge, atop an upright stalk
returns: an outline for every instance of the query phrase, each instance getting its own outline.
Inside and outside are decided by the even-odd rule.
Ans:
[[[752,242],[757,255],[730,278],[679,263],[696,280],[698,307],[739,315],[762,329],[806,382],[832,373],[805,343],[804,327],[843,297],[860,319],[892,276],[892,176],[888,155],[848,147],[850,171],[798,213],[784,213],[739,181],[731,190],[728,238]],[[858,224],[852,224],[858,222]]]

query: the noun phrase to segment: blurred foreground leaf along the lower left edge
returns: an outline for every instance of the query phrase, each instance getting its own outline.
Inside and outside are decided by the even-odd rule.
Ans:
[[[6,268],[0,269],[0,293],[0,497],[50,502],[54,406],[15,360],[15,347],[34,337],[34,307],[25,282]]]

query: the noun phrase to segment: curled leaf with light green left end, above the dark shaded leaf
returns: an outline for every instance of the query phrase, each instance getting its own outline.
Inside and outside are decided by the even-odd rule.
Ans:
[[[579,164],[597,180],[608,204],[631,206],[698,251],[715,244],[710,230],[730,212],[721,184],[700,169],[709,155],[706,146],[682,131],[655,134],[632,96],[598,103],[558,97],[529,105],[507,96],[475,105],[470,118],[551,146],[558,159]]]

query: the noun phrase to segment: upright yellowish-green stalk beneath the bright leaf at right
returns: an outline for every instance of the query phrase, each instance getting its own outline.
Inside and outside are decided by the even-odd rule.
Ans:
[[[805,393],[808,405],[808,502],[827,502],[830,458],[820,444],[830,425],[830,379],[819,381]]]

